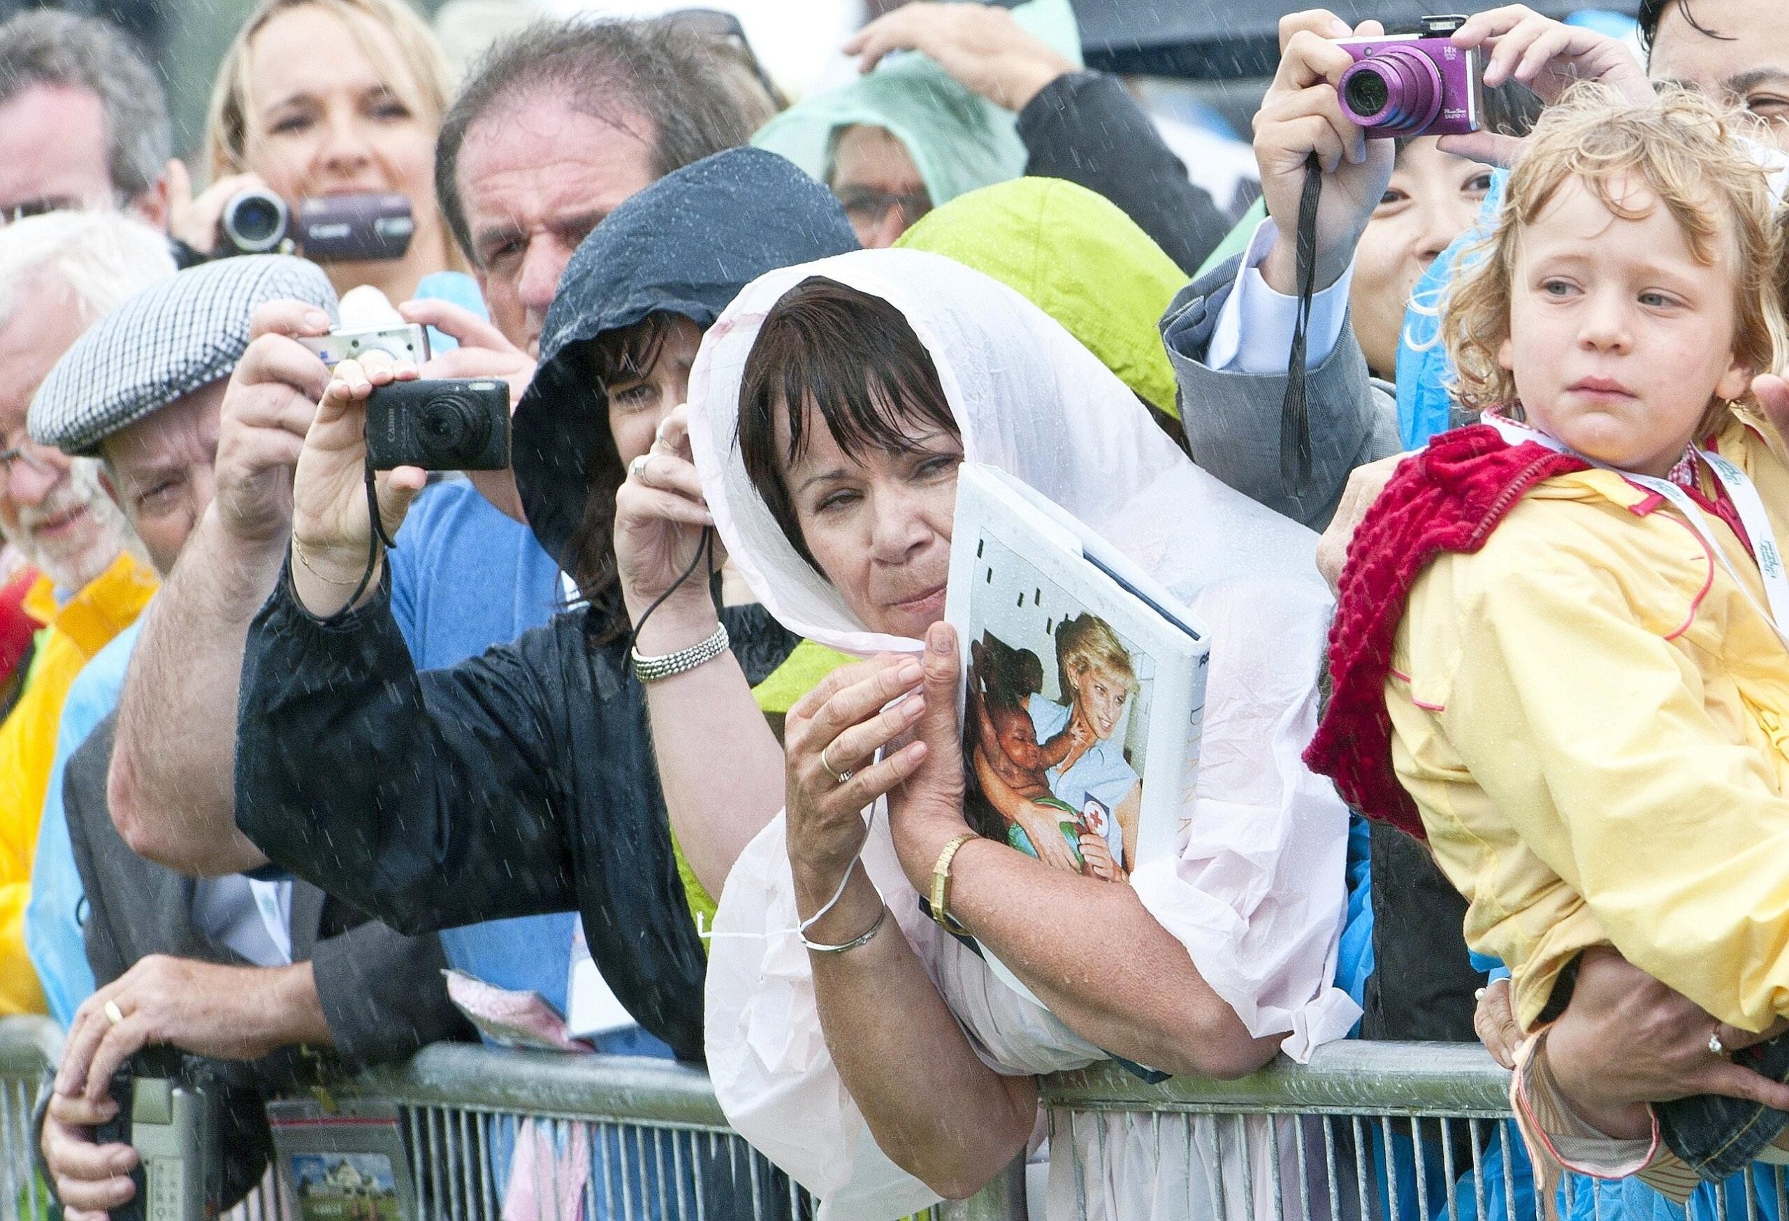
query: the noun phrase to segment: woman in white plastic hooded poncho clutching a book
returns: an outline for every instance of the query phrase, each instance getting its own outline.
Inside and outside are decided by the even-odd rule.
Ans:
[[[794,468],[778,484],[762,470],[762,438],[741,443],[742,383],[766,316],[791,290],[800,286],[791,302],[809,295],[812,277],[880,306],[880,315],[862,313],[864,327],[893,333],[889,316],[903,320],[943,402],[914,408],[903,390],[911,377],[871,366],[859,390],[878,388],[868,399],[880,429],[857,438],[869,443],[841,447],[823,422],[827,404],[810,402]],[[818,288],[825,295],[827,284]],[[837,370],[850,345],[837,331],[807,334]],[[857,359],[873,365],[887,345],[871,340],[864,350]],[[787,383],[800,363],[778,361],[773,381]],[[900,402],[891,406],[891,395]],[[764,606],[835,649],[923,660],[923,703],[903,704],[921,706],[918,719],[878,712],[921,685],[921,667],[903,672],[898,656],[839,670],[791,712],[789,813],[741,855],[716,921],[705,1032],[716,1092],[755,1146],[823,1198],[823,1216],[896,1217],[941,1192],[973,1191],[979,1182],[932,1175],[927,1185],[902,1166],[925,1176],[939,1164],[927,1146],[948,1141],[1007,1141],[1000,1155],[1016,1153],[1036,1114],[1030,1074],[1109,1055],[1240,1074],[1276,1046],[1304,1058],[1345,1035],[1358,1010],[1331,976],[1347,813],[1299,762],[1315,729],[1329,610],[1315,535],[1197,470],[1097,358],[1018,293],[916,250],[850,254],[748,286],[703,341],[689,422],[712,520]],[[787,454],[787,411],[776,427],[775,451]],[[889,431],[898,445],[886,443]],[[1179,858],[1143,863],[1132,887],[1052,871],[991,840],[968,842],[952,862],[952,915],[1050,1010],[995,980],[920,912],[918,887],[939,847],[968,829],[955,644],[937,626],[943,597],[932,588],[943,581],[939,560],[948,565],[957,458],[1000,467],[1077,515],[1213,635],[1200,772]],[[855,558],[837,545],[828,513],[864,520]],[[891,745],[880,763],[868,758],[909,726],[920,742]],[[837,774],[853,767],[841,785]],[[827,813],[828,796],[891,788],[893,803],[869,808],[868,837],[855,810],[841,815],[832,801]],[[837,903],[810,921],[807,940],[871,937],[844,953],[805,949],[794,930],[834,888]],[[886,928],[884,903],[894,917]],[[936,1116],[952,1116],[957,1130]],[[1104,1130],[1093,1121],[1059,1130],[1050,1216],[1179,1217],[1190,1200],[1220,1191],[1240,1221],[1247,1192],[1234,1139],[1218,1153],[1209,1133],[1193,1139],[1200,1133],[1174,1128],[1181,1123],[1211,1121],[1174,1119],[1150,1135],[1122,1117]],[[1251,1146],[1252,1194],[1268,1201],[1288,1149],[1270,1146],[1265,1124],[1251,1130]],[[982,1171],[988,1178],[993,1167]]]

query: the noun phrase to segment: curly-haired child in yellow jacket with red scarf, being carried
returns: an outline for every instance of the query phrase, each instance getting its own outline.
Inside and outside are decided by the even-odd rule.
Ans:
[[[1310,756],[1428,835],[1469,944],[1510,965],[1539,1035],[1519,1057],[1530,1135],[1666,1183],[1683,1164],[1725,1178],[1784,1116],[1708,1096],[1657,1124],[1574,1114],[1546,1032],[1608,946],[1712,1015],[1708,1064],[1732,1033],[1716,1021],[1789,1012],[1789,470],[1753,388],[1789,325],[1750,131],[1682,91],[1580,89],[1542,120],[1444,315],[1487,424],[1404,463],[1356,536]]]

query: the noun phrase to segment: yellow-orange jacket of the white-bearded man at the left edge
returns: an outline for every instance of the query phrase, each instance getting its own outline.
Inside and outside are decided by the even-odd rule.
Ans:
[[[48,577],[25,595],[25,611],[43,631],[25,688],[0,722],[0,1015],[45,1012],[25,956],[25,903],[63,699],[81,667],[136,622],[154,592],[156,574],[125,552],[61,606]]]

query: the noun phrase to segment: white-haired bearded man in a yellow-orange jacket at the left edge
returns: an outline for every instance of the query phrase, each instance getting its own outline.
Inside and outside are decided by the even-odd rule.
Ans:
[[[100,484],[100,463],[32,442],[25,411],[88,325],[172,275],[163,236],[122,213],[63,211],[0,227],[0,538],[38,574],[23,601],[36,633],[25,679],[0,722],[0,1015],[43,1012],[23,924],[63,699],[156,588]]]

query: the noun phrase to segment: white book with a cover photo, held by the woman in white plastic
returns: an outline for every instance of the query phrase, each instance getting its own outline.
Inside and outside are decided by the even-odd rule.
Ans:
[[[1209,656],[1191,611],[1059,506],[964,463],[945,617],[970,826],[1115,885],[1177,851]]]

